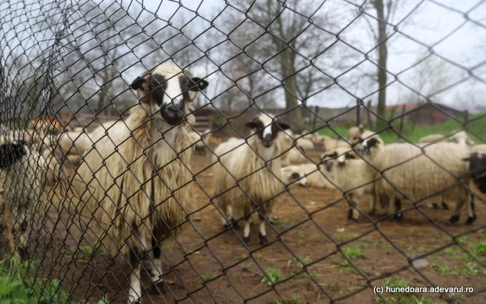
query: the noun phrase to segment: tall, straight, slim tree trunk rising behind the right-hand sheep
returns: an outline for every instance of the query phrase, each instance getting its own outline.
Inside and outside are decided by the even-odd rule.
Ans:
[[[380,44],[378,46],[378,87],[380,91],[378,91],[378,107],[377,107],[377,114],[378,116],[385,118],[386,108],[387,108],[387,89],[385,88],[387,84],[387,42],[385,39],[387,38],[386,33],[386,24],[385,24],[385,6],[383,3],[384,0],[374,0],[373,5],[376,8],[376,15],[378,17],[378,41],[377,43]],[[392,0],[390,0],[392,1]],[[387,125],[387,121],[377,118],[376,119],[376,130],[383,129]]]

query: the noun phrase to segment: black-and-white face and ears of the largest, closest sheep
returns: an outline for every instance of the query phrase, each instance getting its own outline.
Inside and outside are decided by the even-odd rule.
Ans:
[[[192,102],[196,92],[206,89],[208,84],[174,65],[160,64],[151,73],[135,79],[130,87],[154,112],[160,111],[169,125],[177,125],[184,119],[185,104]]]

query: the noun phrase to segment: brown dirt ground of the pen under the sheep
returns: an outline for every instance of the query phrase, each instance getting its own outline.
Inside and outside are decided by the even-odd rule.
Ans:
[[[311,155],[317,157],[319,152]],[[212,195],[211,170],[204,170],[209,163],[209,157],[195,156],[192,168],[200,172],[198,183]],[[486,264],[486,252],[481,251],[486,247],[486,208],[482,202],[476,204],[478,220],[472,226],[463,224],[465,211],[460,224],[446,226],[451,211],[425,206],[421,211],[435,223],[416,210],[405,212],[401,224],[389,219],[375,222],[378,215],[362,215],[353,222],[346,219],[347,202],[337,202],[342,198],[340,191],[293,188],[280,196],[278,220],[267,227],[269,246],[260,248],[258,226],[253,225],[248,250],[242,243],[242,229],[223,231],[209,197],[196,188],[194,199],[201,209],[192,217],[192,228],[173,247],[162,248],[169,291],[159,295],[149,289],[150,278],[142,271],[144,303],[375,303],[377,296],[370,286],[384,284],[474,287],[479,294],[468,298],[461,297],[467,294],[455,294],[460,298],[457,303],[486,303],[486,270],[480,265]],[[110,258],[102,251],[74,254],[76,247],[94,244],[92,233],[80,238],[81,227],[63,207],[67,201],[62,197],[51,200],[49,216],[35,223],[53,240],[49,244],[37,240],[34,249],[35,258],[44,261],[43,278],[60,278],[62,288],[74,292],[79,301],[97,303],[107,296],[111,303],[126,303],[130,272],[126,258]],[[367,213],[367,202],[362,206]],[[416,256],[424,256],[429,265],[419,271],[412,269],[408,259]],[[269,284],[263,271],[278,282]],[[446,303],[441,294],[385,293],[383,298],[388,303]]]

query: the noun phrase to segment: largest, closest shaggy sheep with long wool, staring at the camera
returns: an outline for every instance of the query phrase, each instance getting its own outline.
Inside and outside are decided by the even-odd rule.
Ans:
[[[140,260],[147,250],[146,232],[153,247],[151,280],[163,290],[160,244],[179,235],[189,221],[194,203],[191,151],[186,149],[191,141],[184,117],[186,104],[207,86],[206,80],[171,63],[136,78],[130,87],[140,102],[85,152],[72,178],[85,203],[81,212],[101,229],[99,242],[113,255],[130,253],[128,303],[142,295]]]

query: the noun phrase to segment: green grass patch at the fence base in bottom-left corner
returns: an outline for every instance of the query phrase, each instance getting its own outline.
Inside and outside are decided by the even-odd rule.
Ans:
[[[38,262],[20,264],[16,258],[0,261],[0,303],[74,303],[60,288],[59,280],[42,280]]]

